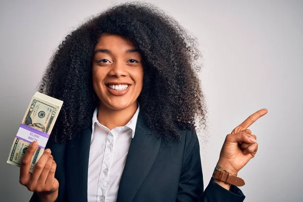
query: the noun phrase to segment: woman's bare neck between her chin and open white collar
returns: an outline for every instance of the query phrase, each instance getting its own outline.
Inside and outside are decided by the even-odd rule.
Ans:
[[[118,126],[125,126],[134,116],[137,110],[137,102],[134,102],[129,107],[123,110],[113,110],[100,102],[98,106],[97,119],[100,124],[112,130]]]

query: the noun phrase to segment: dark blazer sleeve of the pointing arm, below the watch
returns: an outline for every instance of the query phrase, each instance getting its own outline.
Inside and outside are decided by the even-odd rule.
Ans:
[[[176,201],[240,202],[244,198],[237,186],[231,185],[230,190],[227,190],[212,177],[204,190],[199,141],[194,130],[187,131]]]

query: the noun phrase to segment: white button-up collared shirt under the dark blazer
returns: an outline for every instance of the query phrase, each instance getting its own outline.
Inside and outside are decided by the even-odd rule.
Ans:
[[[138,104],[137,111],[125,126],[112,130],[98,122],[98,109],[95,109],[92,117],[88,162],[87,200],[89,202],[117,200],[129,145],[135,135],[139,107]]]

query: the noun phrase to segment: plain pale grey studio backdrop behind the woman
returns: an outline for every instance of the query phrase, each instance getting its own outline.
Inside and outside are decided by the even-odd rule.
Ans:
[[[0,5],[0,200],[28,201],[19,168],[6,163],[49,58],[91,15],[122,1],[6,1]],[[208,129],[200,134],[205,187],[225,136],[250,114],[259,150],[239,171],[245,201],[302,201],[303,2],[148,1],[195,35]]]

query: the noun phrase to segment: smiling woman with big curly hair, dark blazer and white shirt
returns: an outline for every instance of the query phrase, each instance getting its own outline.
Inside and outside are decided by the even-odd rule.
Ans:
[[[186,30],[150,4],[115,6],[68,35],[39,88],[64,106],[33,174],[36,142],[20,168],[31,201],[243,201],[215,178],[204,191],[198,56]],[[247,127],[266,112],[226,136],[222,171],[236,175],[255,156]]]

